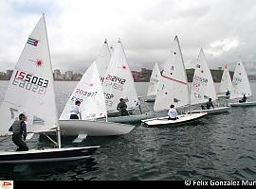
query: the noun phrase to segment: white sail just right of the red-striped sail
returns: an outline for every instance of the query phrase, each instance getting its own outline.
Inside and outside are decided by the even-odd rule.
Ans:
[[[191,103],[192,105],[204,103],[209,98],[214,101],[217,95],[205,54],[201,48],[192,79]]]

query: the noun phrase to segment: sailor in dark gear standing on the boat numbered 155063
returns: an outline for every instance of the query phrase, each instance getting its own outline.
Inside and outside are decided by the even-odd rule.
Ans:
[[[24,113],[20,113],[19,120],[15,120],[9,128],[9,131],[12,131],[12,141],[18,146],[16,151],[28,150],[27,144],[25,143],[27,137],[27,125],[25,121],[27,121],[27,116]]]

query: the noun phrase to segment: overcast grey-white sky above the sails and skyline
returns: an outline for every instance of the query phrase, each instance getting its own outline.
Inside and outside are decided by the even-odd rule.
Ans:
[[[82,72],[120,38],[131,70],[163,68],[177,35],[186,67],[200,47],[211,69],[239,56],[256,74],[254,0],[0,0],[0,71],[13,69],[42,13],[53,69]]]

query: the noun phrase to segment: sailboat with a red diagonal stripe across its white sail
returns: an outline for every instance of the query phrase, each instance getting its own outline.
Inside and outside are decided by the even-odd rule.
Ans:
[[[165,62],[160,84],[155,97],[154,111],[168,110],[170,105],[175,108],[190,106],[189,86],[184,60],[177,36],[174,38],[174,47]],[[206,112],[178,115],[176,120],[168,120],[168,116],[142,120],[147,127],[174,126],[192,122],[204,117]]]

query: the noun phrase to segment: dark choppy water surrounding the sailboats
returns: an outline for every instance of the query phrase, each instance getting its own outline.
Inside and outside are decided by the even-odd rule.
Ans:
[[[55,82],[59,114],[76,83]],[[0,82],[0,100],[7,84]],[[256,82],[250,84],[256,95]],[[144,95],[147,83],[136,85],[138,95]],[[153,104],[142,103],[141,107],[146,112]],[[256,107],[232,108],[196,125],[161,129],[137,126],[124,136],[89,137],[79,146],[101,146],[91,159],[36,163],[25,168],[0,165],[0,180],[255,180],[255,117]],[[72,139],[63,138],[63,145],[75,146]],[[51,144],[35,136],[27,145]],[[5,149],[14,149],[10,139],[0,142],[0,150]]]

